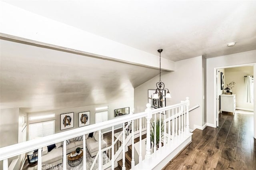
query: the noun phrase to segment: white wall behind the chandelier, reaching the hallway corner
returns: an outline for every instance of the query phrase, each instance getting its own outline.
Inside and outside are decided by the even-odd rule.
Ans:
[[[190,128],[194,125],[202,126],[202,56],[175,62],[176,71],[164,72],[161,76],[165,87],[170,90],[171,99],[166,100],[166,105],[180,103],[190,97],[190,107],[200,105],[190,112]],[[145,111],[148,103],[148,89],[156,89],[159,76],[150,79],[134,89],[135,113]]]

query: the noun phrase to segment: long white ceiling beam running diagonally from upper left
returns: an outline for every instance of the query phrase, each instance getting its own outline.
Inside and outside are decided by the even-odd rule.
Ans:
[[[2,39],[89,57],[159,68],[158,55],[114,42],[5,2],[0,2],[0,6],[0,36]],[[175,63],[162,58],[161,67],[165,71],[174,71]]]

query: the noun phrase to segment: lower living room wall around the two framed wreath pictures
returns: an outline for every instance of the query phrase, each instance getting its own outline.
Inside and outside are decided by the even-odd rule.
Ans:
[[[134,92],[132,90],[132,91],[129,91],[127,93],[134,93]],[[71,130],[71,129],[74,129],[74,128],[78,128],[78,120],[79,120],[78,113],[80,113],[80,112],[90,111],[90,125],[94,124],[95,123],[95,113],[100,112],[100,111],[95,111],[95,108],[96,107],[103,107],[103,106],[108,106],[108,109],[101,110],[101,111],[108,110],[108,120],[110,120],[110,119],[115,119],[114,109],[120,109],[120,108],[123,108],[123,107],[130,107],[130,111],[131,111],[134,108],[134,100],[133,100],[133,97],[131,97],[131,98],[121,98],[120,102],[116,102],[116,103],[106,103],[106,104],[101,104],[101,105],[91,105],[91,106],[83,106],[83,107],[58,109],[58,110],[53,110],[53,111],[28,113],[28,120],[29,120],[29,117],[35,116],[35,115],[44,115],[44,114],[52,114],[52,113],[55,114],[54,118],[28,121],[28,124],[42,122],[42,121],[56,120],[55,121],[55,133],[64,132],[66,130]],[[60,114],[71,113],[71,112],[74,112],[74,128],[60,130]],[[116,117],[116,118],[118,118],[118,117]],[[102,132],[107,131],[107,130],[108,129],[102,130]]]

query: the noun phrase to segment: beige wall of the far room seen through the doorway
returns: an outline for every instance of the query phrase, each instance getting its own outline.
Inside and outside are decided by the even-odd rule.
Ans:
[[[234,81],[235,87],[232,88],[236,94],[236,107],[243,109],[253,109],[253,103],[247,103],[247,86],[245,75],[253,75],[253,66],[226,68],[226,84]],[[226,85],[225,84],[225,85]]]

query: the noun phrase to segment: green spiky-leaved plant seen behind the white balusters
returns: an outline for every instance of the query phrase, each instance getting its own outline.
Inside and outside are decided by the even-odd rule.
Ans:
[[[155,129],[155,122],[151,122],[152,129],[150,130],[150,142],[154,146],[154,129]],[[164,136],[164,120],[161,119],[161,128],[160,128],[160,119],[156,119],[156,145],[159,144],[159,131],[161,129],[161,139]]]

